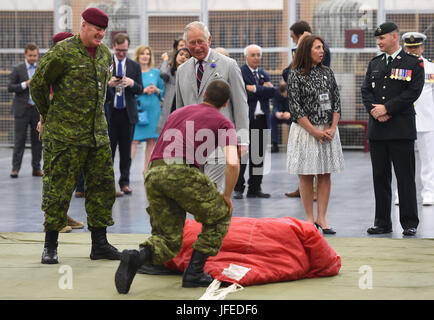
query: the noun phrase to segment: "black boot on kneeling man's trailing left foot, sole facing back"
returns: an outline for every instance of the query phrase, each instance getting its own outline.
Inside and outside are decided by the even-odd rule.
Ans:
[[[121,263],[115,274],[115,285],[119,293],[128,293],[137,270],[144,263],[149,263],[152,257],[150,246],[140,247],[137,250],[124,250],[121,254]]]

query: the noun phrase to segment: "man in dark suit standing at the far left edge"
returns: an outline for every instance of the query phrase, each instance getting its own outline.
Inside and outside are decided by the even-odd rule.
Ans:
[[[24,62],[14,66],[9,75],[8,91],[15,92],[12,112],[15,120],[15,143],[12,154],[11,178],[18,178],[26,145],[27,127],[30,127],[32,145],[33,176],[41,177],[42,142],[36,127],[39,122],[39,112],[30,96],[30,78],[36,70],[39,49],[34,43],[28,43],[24,49]]]

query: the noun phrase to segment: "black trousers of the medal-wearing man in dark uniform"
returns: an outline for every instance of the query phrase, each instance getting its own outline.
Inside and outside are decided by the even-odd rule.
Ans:
[[[375,226],[391,228],[392,164],[398,184],[402,228],[419,224],[416,200],[414,140],[370,140],[375,192]]]

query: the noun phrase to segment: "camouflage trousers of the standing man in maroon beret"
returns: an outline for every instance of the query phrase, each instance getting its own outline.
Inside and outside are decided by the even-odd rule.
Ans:
[[[67,213],[79,174],[85,181],[85,208],[89,229],[114,224],[115,180],[110,145],[82,147],[44,140],[42,211],[44,231],[67,225]]]

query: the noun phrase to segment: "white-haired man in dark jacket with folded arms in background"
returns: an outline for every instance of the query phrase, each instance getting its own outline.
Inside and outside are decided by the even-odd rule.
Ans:
[[[262,68],[261,64],[262,49],[252,44],[244,49],[246,63],[241,67],[241,74],[246,85],[247,104],[249,105],[249,180],[247,182],[248,198],[269,198],[270,194],[263,193],[261,190],[264,156],[266,141],[264,141],[267,128],[270,123],[270,99],[276,93],[276,89],[270,82],[270,76]],[[258,135],[253,134],[257,132]],[[234,199],[242,199],[244,193],[244,172],[246,171],[246,161],[240,166],[237,185],[235,186]]]

